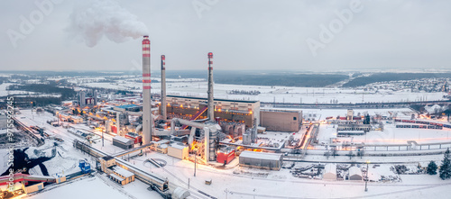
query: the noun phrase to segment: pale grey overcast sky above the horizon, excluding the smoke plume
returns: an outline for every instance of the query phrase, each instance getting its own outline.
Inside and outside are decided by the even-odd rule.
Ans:
[[[34,2],[42,1],[1,1],[0,70],[141,69],[141,38],[103,37],[87,47],[71,37],[75,1],[55,0],[41,22],[21,31],[23,17],[39,20]],[[204,69],[209,51],[214,68],[224,70],[451,68],[451,1],[358,2],[118,1],[147,26],[152,70],[161,54],[168,70]]]

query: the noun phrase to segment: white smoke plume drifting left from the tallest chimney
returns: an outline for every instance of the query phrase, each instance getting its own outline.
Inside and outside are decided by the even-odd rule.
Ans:
[[[67,30],[88,47],[96,46],[104,35],[110,41],[124,42],[148,33],[145,24],[115,0],[77,1]]]

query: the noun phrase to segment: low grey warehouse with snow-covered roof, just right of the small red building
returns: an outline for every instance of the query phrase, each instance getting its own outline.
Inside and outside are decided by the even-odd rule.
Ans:
[[[282,157],[278,153],[263,153],[244,150],[240,154],[241,167],[256,167],[270,170],[281,170]]]

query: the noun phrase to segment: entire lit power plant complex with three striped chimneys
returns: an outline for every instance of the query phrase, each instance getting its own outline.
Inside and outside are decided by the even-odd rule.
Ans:
[[[97,170],[104,172],[120,185],[133,183],[135,179],[139,179],[150,185],[149,190],[158,192],[164,198],[186,198],[189,196],[189,190],[179,185],[170,185],[167,178],[153,174],[152,170],[149,173],[141,166],[135,166],[134,161],[130,162],[130,158],[146,157],[152,150],[172,158],[194,162],[195,165],[200,163],[206,166],[226,167],[244,150],[281,151],[284,146],[283,140],[258,139],[257,132],[264,131],[264,128],[260,127],[261,118],[266,123],[274,122],[272,125],[276,127],[274,129],[276,131],[280,128],[277,126],[281,124],[280,120],[289,118],[293,121],[290,124],[294,129],[301,121],[296,119],[298,114],[292,113],[274,116],[274,113],[268,112],[264,113],[265,117],[261,117],[260,101],[215,99],[213,52],[207,53],[207,97],[167,95],[166,56],[161,55],[161,101],[157,102],[156,95],[157,100],[152,102],[151,41],[147,35],[143,36],[142,50],[142,95],[134,93],[116,98],[114,96],[116,94],[111,92],[100,90],[97,94],[97,90],[92,90],[92,93],[82,90],[73,101],[75,106],[70,107],[69,111],[62,111],[61,108],[48,110],[53,111],[59,119],[56,122],[48,122],[55,127],[60,125],[60,121],[82,125],[83,120],[86,120],[89,127],[87,129],[78,129],[78,126],[72,127],[67,123],[63,125],[69,133],[81,139],[71,140],[72,146],[94,157],[95,162],[92,164],[87,163],[87,160],[80,161],[82,169],[80,175],[89,173],[87,166],[90,168],[90,165],[96,165]],[[43,140],[43,136],[50,137],[47,132],[44,133],[43,128],[36,126],[30,129],[22,122],[17,124],[24,130],[32,132],[31,134],[38,139]],[[286,126],[285,123],[283,126]],[[33,130],[41,131],[41,134]],[[104,134],[111,136],[109,139],[112,142],[104,144]],[[120,150],[117,152],[114,150],[115,153],[112,153],[111,150],[106,152],[102,148],[98,149],[97,140],[102,141],[102,148],[106,147],[106,144],[111,144]],[[258,158],[263,156],[265,155],[257,156],[254,160],[251,159],[253,158],[251,154],[244,162],[250,161],[252,164],[246,165],[253,165],[253,162],[266,161],[266,158]],[[275,162],[272,168],[280,169],[280,156],[279,159],[272,158],[272,161]],[[143,160],[144,167],[164,167],[166,164],[167,162],[160,158]],[[211,184],[211,181],[209,183]]]

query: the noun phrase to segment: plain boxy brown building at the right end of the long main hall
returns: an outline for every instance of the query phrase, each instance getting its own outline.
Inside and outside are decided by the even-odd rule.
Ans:
[[[302,112],[261,111],[260,125],[268,131],[297,132],[302,126]]]

